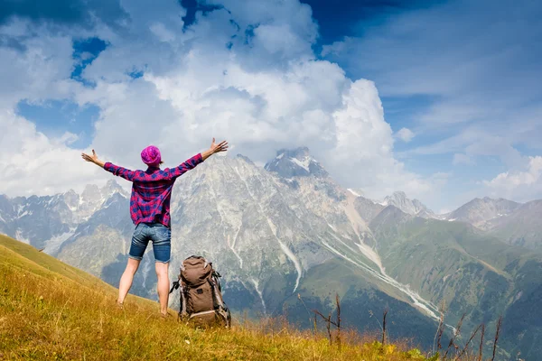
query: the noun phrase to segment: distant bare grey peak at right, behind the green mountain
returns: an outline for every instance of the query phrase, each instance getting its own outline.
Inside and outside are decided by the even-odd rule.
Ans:
[[[520,204],[508,199],[472,199],[469,203],[453,212],[444,215],[449,221],[467,222],[475,227],[488,227],[486,223],[492,219],[508,215],[519,208]]]

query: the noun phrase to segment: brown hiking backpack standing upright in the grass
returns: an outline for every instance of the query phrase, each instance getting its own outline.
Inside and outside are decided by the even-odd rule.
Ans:
[[[182,261],[179,279],[173,282],[170,291],[180,289],[181,319],[202,327],[231,326],[231,314],[222,299],[220,277],[212,263],[201,256],[192,255]]]

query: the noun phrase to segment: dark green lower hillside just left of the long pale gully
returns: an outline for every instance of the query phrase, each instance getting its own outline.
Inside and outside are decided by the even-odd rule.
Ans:
[[[368,274],[359,267],[333,259],[304,274],[296,293],[301,295],[304,304],[292,296],[285,301],[284,308],[289,319],[296,325],[310,329],[312,320],[307,317],[304,306],[309,310],[316,309],[329,314],[334,312],[335,294],[338,294],[341,298],[341,319],[345,327],[364,333],[378,333],[380,315],[388,310],[388,322],[391,325],[388,327],[388,335],[391,338],[412,339],[416,347],[430,349],[438,322],[426,317],[410,303],[402,301],[405,294],[391,287],[389,293],[383,292],[368,279]],[[389,295],[393,295],[393,292],[397,293],[397,298]],[[378,315],[377,318],[374,315]],[[449,336],[446,333],[446,337]]]

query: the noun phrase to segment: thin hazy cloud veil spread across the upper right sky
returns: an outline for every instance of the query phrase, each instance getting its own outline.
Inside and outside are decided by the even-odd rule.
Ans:
[[[326,59],[376,82],[391,99],[387,114],[413,124],[417,142],[401,159],[425,164],[435,159],[425,155],[447,154],[459,164],[485,157],[511,169],[523,158],[519,147],[539,153],[542,87],[535,75],[542,73],[542,7],[523,0],[492,4],[436,2],[323,47]],[[490,178],[493,164],[479,162],[476,173]],[[468,178],[458,185],[472,187]],[[443,198],[454,201],[460,187],[445,190]]]

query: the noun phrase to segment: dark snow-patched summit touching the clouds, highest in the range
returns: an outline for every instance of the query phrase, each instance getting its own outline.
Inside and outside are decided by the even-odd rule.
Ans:
[[[317,177],[328,176],[322,165],[311,155],[309,148],[299,147],[294,149],[281,149],[276,157],[266,163],[266,171],[276,172],[284,178],[293,177]]]

